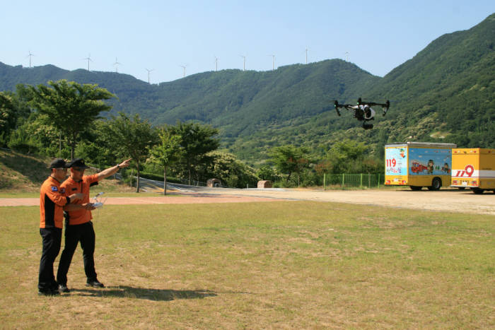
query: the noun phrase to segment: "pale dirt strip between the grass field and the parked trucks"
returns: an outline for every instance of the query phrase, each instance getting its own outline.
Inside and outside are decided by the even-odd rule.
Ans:
[[[472,191],[441,189],[440,191],[387,190],[310,190],[310,189],[223,189],[197,188],[192,192],[173,192],[167,197],[110,197],[106,205],[122,204],[197,204],[243,203],[255,201],[321,201],[365,204],[428,211],[450,211],[495,215],[495,194],[473,194]],[[0,199],[0,206],[36,206],[39,199]]]

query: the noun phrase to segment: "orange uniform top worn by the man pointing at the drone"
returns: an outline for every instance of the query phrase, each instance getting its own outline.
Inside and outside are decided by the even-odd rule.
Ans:
[[[62,184],[62,189],[65,189],[66,196],[71,194],[84,194],[83,199],[74,201],[74,204],[85,204],[89,203],[89,187],[98,184],[98,174],[95,175],[84,175],[81,181],[76,182],[74,179],[69,177]],[[81,223],[88,223],[93,216],[91,216],[91,211],[86,209],[76,210],[76,211],[66,211],[65,217],[67,224],[69,225],[81,225]]]

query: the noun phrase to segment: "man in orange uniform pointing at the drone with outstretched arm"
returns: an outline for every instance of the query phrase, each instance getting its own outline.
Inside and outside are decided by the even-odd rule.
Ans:
[[[107,168],[95,175],[84,175],[84,170],[88,168],[82,158],[72,160],[67,167],[71,168],[71,176],[62,184],[62,189],[65,189],[65,194],[80,193],[83,194],[83,199],[78,201],[80,204],[89,203],[89,188],[98,181],[114,175],[122,167],[129,166],[131,160],[124,162],[114,167]],[[59,290],[62,292],[70,292],[67,288],[67,273],[71,265],[72,257],[76,251],[78,242],[81,242],[83,249],[84,272],[86,273],[86,286],[95,288],[104,288],[105,285],[100,283],[95,271],[95,231],[91,219],[92,208],[81,208],[79,210],[66,212],[66,228],[65,228],[65,247],[60,257],[59,270],[57,271],[57,282]]]

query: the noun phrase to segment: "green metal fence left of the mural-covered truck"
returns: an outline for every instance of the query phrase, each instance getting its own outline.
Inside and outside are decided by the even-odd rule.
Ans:
[[[380,188],[383,186],[383,174],[325,174],[323,175],[323,189],[332,188]]]

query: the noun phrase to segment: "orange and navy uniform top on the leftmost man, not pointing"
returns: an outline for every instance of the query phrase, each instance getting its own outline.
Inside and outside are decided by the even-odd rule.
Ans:
[[[68,196],[54,177],[43,182],[40,189],[40,228],[63,227],[64,206],[70,201]]]

